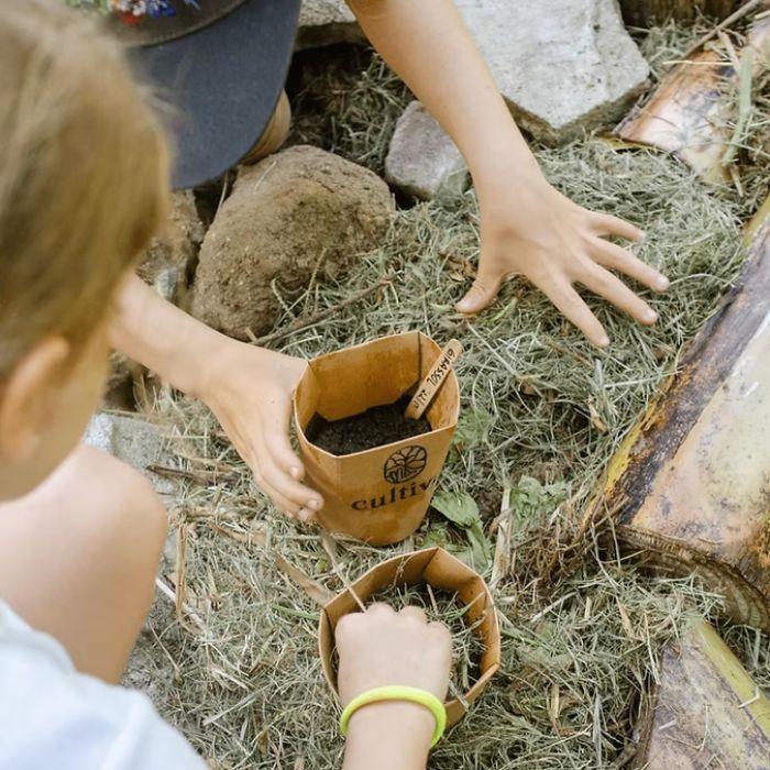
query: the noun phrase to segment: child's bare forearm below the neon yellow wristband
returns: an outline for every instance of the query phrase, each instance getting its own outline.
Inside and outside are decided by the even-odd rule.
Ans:
[[[389,701],[350,718],[344,770],[424,770],[436,718],[417,703]]]

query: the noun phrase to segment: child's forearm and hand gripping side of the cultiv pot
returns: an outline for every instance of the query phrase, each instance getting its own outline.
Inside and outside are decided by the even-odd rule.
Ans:
[[[289,443],[292,394],[306,362],[238,342],[166,302],[136,276],[123,289],[112,344],[206,403],[273,502],[309,520],[322,506]]]

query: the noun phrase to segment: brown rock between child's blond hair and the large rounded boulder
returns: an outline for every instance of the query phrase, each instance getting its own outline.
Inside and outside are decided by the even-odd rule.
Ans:
[[[184,306],[202,240],[193,191],[174,193],[168,222],[152,240],[136,273],[164,299]]]

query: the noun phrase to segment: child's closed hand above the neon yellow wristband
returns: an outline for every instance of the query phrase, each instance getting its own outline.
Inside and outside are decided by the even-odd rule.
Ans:
[[[428,623],[418,607],[396,613],[375,604],[345,615],[337,626],[338,688],[343,704],[373,688],[405,684],[439,700],[447,695],[452,640],[447,627]]]

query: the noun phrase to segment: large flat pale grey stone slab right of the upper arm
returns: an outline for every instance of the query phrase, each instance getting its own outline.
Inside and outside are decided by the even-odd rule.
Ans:
[[[616,0],[457,0],[519,125],[558,143],[614,121],[649,68]]]

